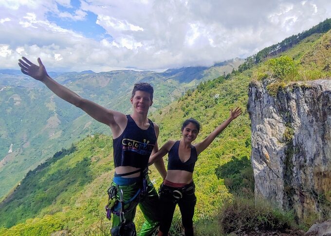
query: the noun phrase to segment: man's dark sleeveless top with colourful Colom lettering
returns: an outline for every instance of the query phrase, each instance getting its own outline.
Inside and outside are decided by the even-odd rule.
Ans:
[[[114,148],[114,164],[117,166],[133,166],[146,168],[148,159],[156,143],[154,124],[148,119],[149,127],[139,128],[130,115],[123,133],[112,140]]]

